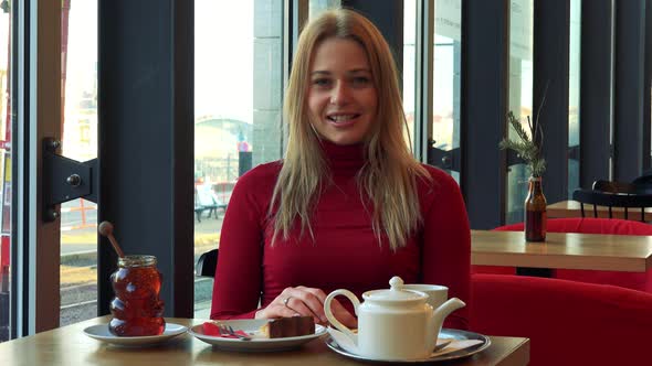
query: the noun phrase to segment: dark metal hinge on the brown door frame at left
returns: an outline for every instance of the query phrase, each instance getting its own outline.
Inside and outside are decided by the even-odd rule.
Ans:
[[[61,215],[56,205],[83,197],[97,203],[97,159],[78,162],[59,154],[61,142],[43,139],[43,220]]]

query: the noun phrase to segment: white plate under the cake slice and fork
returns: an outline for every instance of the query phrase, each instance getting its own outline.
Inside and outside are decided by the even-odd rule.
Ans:
[[[206,335],[203,334],[202,324],[192,326],[188,330],[188,333],[208,344],[217,346],[218,348],[239,352],[275,352],[292,349],[326,334],[326,327],[315,324],[315,334],[284,338],[265,338],[260,334],[259,329],[266,322],[267,320],[264,319],[219,321],[221,324],[233,326],[234,330],[242,330],[251,334],[251,341]]]

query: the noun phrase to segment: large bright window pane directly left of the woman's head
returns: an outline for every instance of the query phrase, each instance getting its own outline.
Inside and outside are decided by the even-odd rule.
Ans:
[[[238,177],[283,152],[283,1],[194,2],[194,260],[218,248]],[[194,282],[208,319],[212,279]]]

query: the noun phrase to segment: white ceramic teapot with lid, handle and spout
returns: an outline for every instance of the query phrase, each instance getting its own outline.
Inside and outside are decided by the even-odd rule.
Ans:
[[[465,306],[464,302],[453,298],[438,309],[432,309],[427,303],[428,294],[404,290],[400,277],[392,277],[389,284],[390,290],[362,293],[362,304],[348,290],[330,292],[324,302],[326,317],[356,344],[360,356],[385,360],[430,357],[444,319],[451,312]],[[330,302],[339,294],[354,303],[358,316],[358,334],[333,316]]]

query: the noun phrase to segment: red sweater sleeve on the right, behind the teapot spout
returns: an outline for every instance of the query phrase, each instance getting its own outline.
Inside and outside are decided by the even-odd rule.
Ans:
[[[446,286],[449,298],[466,303],[444,322],[445,327],[466,330],[471,306],[471,232],[466,208],[458,183],[443,171],[429,171],[434,177],[434,194],[423,217],[422,281]]]

